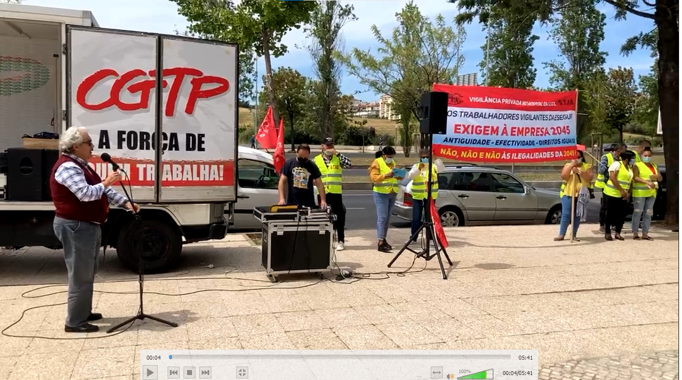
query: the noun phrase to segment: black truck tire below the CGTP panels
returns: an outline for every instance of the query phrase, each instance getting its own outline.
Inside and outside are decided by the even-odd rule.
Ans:
[[[145,274],[168,272],[177,264],[182,251],[182,238],[177,226],[158,219],[143,219],[141,234],[136,229],[136,221],[133,219],[119,232],[116,253],[125,268],[138,273],[140,253]],[[134,247],[138,235],[140,253]]]

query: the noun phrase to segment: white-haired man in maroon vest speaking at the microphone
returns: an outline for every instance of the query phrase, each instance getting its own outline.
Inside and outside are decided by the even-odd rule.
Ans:
[[[109,204],[138,210],[111,187],[121,179],[113,172],[105,180],[88,165],[92,139],[83,127],[70,127],[59,139],[61,157],[50,176],[50,192],[55,204],[55,235],[64,247],[69,291],[65,332],[95,332],[90,321],[102,319],[92,313],[92,298],[102,224]]]

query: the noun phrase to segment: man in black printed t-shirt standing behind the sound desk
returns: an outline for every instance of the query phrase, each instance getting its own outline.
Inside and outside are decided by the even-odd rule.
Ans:
[[[280,172],[280,204],[295,204],[299,207],[316,208],[315,194],[312,185],[320,193],[320,207],[327,208],[325,187],[322,184],[320,170],[310,161],[310,146],[300,144],[296,157],[288,159]]]

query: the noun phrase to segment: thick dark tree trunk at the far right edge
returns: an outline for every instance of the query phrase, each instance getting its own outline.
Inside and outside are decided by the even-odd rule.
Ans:
[[[677,6],[676,0],[659,0],[656,11],[658,29],[658,101],[666,157],[666,223],[679,223],[679,28],[665,7]]]

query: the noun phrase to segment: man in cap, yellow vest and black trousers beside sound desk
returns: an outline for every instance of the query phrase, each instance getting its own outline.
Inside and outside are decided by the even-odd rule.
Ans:
[[[334,228],[336,228],[336,251],[343,251],[345,249],[345,234],[346,227],[346,206],[343,204],[341,195],[342,189],[342,172],[344,169],[351,167],[351,159],[338,153],[334,148],[334,140],[332,138],[325,138],[322,142],[322,153],[315,156],[315,165],[322,174],[322,184],[325,186],[325,194],[327,195],[327,206],[331,208],[331,212],[336,215]],[[319,202],[319,199],[318,199]]]

